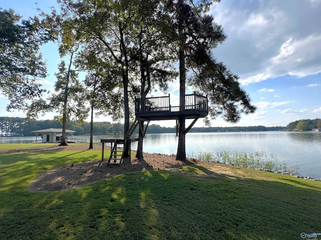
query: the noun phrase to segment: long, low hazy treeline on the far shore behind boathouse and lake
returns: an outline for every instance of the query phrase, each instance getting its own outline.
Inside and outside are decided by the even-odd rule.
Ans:
[[[8,136],[12,133],[24,136],[35,135],[31,131],[46,128],[61,128],[61,123],[56,120],[30,120],[23,117],[0,117],[0,135]],[[83,124],[78,121],[67,122],[67,129],[76,131],[74,135],[89,135],[90,122]],[[231,127],[193,127],[190,132],[218,132],[218,131],[277,131],[285,129],[284,126],[231,126]],[[94,135],[120,134],[123,131],[123,123],[111,123],[109,121],[94,122]],[[136,128],[138,132],[138,127]],[[147,133],[175,133],[175,127],[162,127],[157,124],[148,126]]]

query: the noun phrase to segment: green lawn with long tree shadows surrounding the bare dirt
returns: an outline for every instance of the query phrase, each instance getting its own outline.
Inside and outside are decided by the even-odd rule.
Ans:
[[[126,173],[60,192],[27,189],[53,166],[100,155],[1,153],[0,239],[301,239],[301,232],[321,232],[321,182],[223,164]]]

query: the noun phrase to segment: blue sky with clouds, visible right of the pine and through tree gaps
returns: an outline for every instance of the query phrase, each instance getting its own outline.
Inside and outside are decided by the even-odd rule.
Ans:
[[[47,12],[51,5],[56,1],[38,2]],[[0,7],[12,8],[23,18],[37,14],[34,0],[0,0]],[[212,126],[286,126],[299,119],[321,118],[320,12],[321,0],[221,0],[211,7],[210,14],[227,35],[213,54],[239,76],[241,87],[257,107],[254,114],[241,115],[238,123],[218,117],[211,121]],[[52,89],[61,60],[58,46],[48,43],[41,52],[49,73],[42,83]],[[171,93],[171,101],[178,101],[179,82],[171,83],[167,93]],[[7,112],[7,104],[8,100],[0,95],[0,116],[26,116],[24,112]],[[48,113],[40,119],[52,119],[54,115]],[[173,127],[175,121],[151,124]],[[204,123],[199,119],[195,126]]]

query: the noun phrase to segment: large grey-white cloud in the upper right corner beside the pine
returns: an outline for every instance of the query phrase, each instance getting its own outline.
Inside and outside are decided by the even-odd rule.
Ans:
[[[221,1],[211,13],[228,38],[213,53],[243,85],[287,74],[317,74],[320,11],[316,0]]]

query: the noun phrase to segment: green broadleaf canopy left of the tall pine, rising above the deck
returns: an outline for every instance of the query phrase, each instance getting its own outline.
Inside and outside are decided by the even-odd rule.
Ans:
[[[134,97],[145,96],[154,84],[166,89],[170,77],[175,76],[168,63],[176,57],[168,37],[171,17],[159,0],[58,2],[60,13],[54,10],[49,21],[59,22],[57,28],[65,32],[63,39],[72,35],[86,42],[78,64],[100,75],[101,86],[113,85],[113,89],[105,88],[108,104],[95,105],[114,119],[123,116],[125,134]]]

